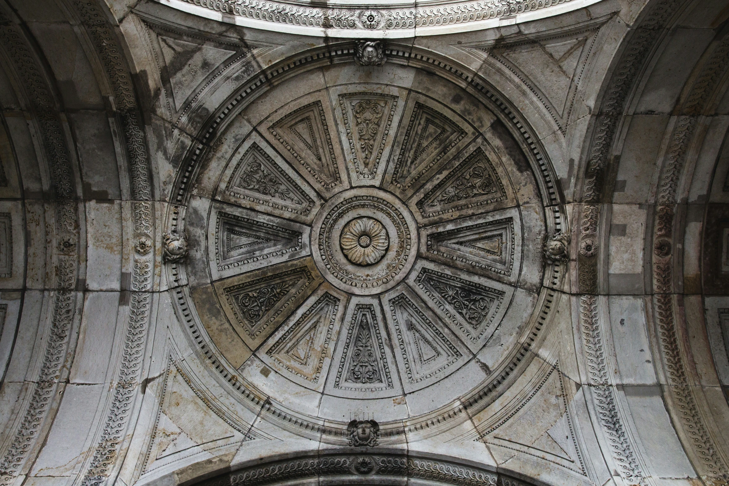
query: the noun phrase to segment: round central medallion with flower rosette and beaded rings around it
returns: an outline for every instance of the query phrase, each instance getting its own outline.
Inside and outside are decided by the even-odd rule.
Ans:
[[[311,245],[327,281],[351,294],[372,295],[408,275],[418,254],[418,230],[412,213],[389,192],[349,189],[319,210]]]

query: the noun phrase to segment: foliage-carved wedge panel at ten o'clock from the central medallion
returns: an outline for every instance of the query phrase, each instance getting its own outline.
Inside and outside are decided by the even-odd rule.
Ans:
[[[243,153],[225,192],[302,216],[308,215],[314,204],[313,199],[258,144],[251,144]]]

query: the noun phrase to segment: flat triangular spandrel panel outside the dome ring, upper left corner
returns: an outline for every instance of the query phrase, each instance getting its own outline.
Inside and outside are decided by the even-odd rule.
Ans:
[[[208,74],[235,54],[235,50],[225,50],[168,36],[160,35],[158,38],[178,110]]]

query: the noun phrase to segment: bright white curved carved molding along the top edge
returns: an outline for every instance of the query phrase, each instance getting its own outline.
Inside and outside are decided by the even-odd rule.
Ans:
[[[308,2],[157,0],[193,15],[265,31],[349,39],[402,39],[510,26],[588,7],[602,0]],[[374,15],[373,15],[374,14]],[[370,21],[373,19],[373,21]]]

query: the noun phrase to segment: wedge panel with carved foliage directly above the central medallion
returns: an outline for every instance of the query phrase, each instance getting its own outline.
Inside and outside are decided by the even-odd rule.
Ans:
[[[375,179],[391,130],[397,96],[349,93],[339,96],[354,173],[357,179]]]

